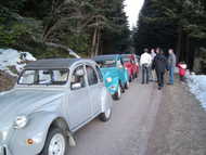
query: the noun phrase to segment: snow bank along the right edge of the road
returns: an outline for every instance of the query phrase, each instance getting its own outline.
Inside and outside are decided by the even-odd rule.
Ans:
[[[206,75],[189,75],[188,83],[190,91],[201,101],[202,106],[206,109]]]

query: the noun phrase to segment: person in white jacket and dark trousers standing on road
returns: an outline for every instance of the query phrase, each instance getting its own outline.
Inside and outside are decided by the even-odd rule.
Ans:
[[[140,57],[140,66],[142,68],[142,83],[149,83],[150,67],[152,65],[152,56],[149,54],[149,49],[144,49],[144,53]]]

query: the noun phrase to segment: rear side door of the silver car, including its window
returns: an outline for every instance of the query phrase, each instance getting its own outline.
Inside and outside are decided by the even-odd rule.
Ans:
[[[101,93],[104,87],[103,79],[100,77],[100,75],[98,75],[96,68],[93,65],[86,65],[89,96],[92,104],[92,115],[95,115],[101,111]]]

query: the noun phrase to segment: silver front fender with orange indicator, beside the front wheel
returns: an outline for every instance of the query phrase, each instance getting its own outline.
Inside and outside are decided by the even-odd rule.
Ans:
[[[15,129],[10,147],[16,155],[39,154],[43,146],[51,124],[60,116],[52,112],[37,112],[31,114],[28,125],[23,129]],[[34,144],[28,144],[31,139]]]

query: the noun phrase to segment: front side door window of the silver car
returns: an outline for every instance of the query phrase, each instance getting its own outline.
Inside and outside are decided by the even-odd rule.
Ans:
[[[79,72],[85,73],[83,66],[77,67],[72,75],[70,89],[77,90],[86,87],[85,74],[80,75]]]

